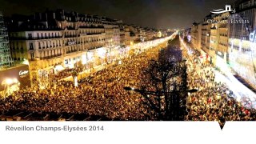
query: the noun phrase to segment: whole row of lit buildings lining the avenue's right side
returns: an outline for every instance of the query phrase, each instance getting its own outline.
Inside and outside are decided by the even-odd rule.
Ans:
[[[201,24],[194,23],[192,43],[201,50],[201,58],[208,59],[220,70],[231,69],[255,88],[256,1],[237,0],[234,8],[235,13],[209,14]]]

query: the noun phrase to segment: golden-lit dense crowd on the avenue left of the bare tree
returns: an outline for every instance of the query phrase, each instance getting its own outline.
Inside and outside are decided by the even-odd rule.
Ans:
[[[24,110],[61,114],[90,114],[122,120],[154,120],[153,111],[143,104],[140,94],[127,92],[125,86],[138,87],[142,70],[158,57],[161,46],[122,59],[122,64],[110,66],[90,77],[73,82],[58,81],[56,86],[27,88],[0,99],[0,110]],[[57,75],[58,76],[58,75]]]

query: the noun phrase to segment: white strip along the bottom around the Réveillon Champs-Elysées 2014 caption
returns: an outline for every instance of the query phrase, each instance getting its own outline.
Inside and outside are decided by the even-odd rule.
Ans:
[[[104,126],[104,131],[6,131],[6,126]],[[256,122],[0,122],[1,143],[255,143]]]

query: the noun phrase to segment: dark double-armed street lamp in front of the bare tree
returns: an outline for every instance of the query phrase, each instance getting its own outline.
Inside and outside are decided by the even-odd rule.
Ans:
[[[192,90],[185,90],[185,91],[170,91],[170,92],[162,92],[162,91],[148,91],[148,90],[140,90],[140,89],[135,89],[134,87],[124,87],[124,90],[127,91],[134,91],[134,92],[138,92],[139,94],[142,94],[142,96],[144,98],[146,98],[147,100],[149,100],[148,95],[154,95],[158,98],[158,106],[156,106],[156,104],[154,104],[153,102],[150,102],[150,107],[157,110],[158,112],[158,120],[162,120],[162,108],[161,108],[161,100],[162,100],[162,96],[165,96],[166,94],[179,94],[182,92],[188,92],[188,93],[195,93],[198,90],[196,89],[192,89]]]

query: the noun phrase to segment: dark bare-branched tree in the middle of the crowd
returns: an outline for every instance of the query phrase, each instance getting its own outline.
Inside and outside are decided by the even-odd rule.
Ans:
[[[158,61],[150,61],[143,71],[141,94],[159,120],[179,121],[186,115],[186,61],[182,61],[177,41],[160,50]]]

